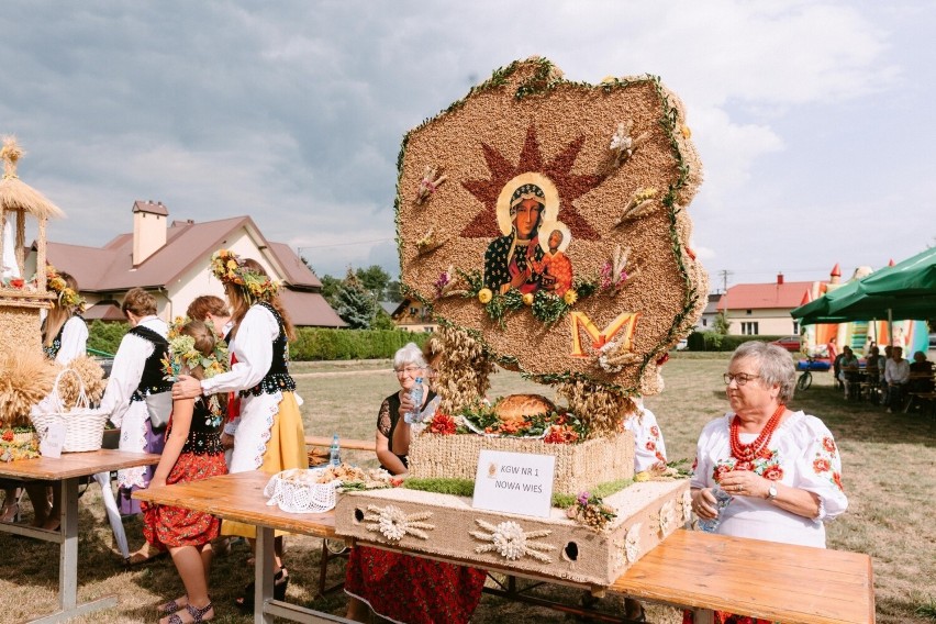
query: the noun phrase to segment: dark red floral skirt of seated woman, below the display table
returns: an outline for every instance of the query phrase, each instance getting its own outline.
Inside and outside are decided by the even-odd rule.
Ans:
[[[357,546],[348,559],[345,592],[393,622],[457,624],[471,619],[486,578],[476,568]]]

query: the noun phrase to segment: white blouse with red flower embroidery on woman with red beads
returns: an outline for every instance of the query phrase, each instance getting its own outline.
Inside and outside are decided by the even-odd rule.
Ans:
[[[732,456],[729,426],[733,417],[733,413],[725,414],[702,430],[691,487],[711,488],[723,472],[748,469],[791,488],[815,493],[820,499],[820,512],[815,519],[803,517],[766,499],[738,495],[722,512],[718,533],[825,548],[823,522],[848,508],[842,488],[842,458],[832,432],[817,417],[794,412],[773,432],[768,444],[770,457],[745,465]],[[757,434],[740,434],[744,444],[756,438]]]

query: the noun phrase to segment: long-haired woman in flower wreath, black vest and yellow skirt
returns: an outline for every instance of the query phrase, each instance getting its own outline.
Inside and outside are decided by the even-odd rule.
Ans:
[[[253,259],[220,249],[211,259],[212,272],[224,285],[233,312],[234,328],[229,347],[231,370],[199,381],[181,376],[172,387],[174,399],[192,399],[237,391],[241,413],[225,425],[234,436],[231,472],[260,469],[274,475],[290,468],[307,468],[305,432],[296,382],[289,375],[289,345],[294,337],[292,323],[277,297],[279,286]],[[256,527],[225,521],[224,535],[256,536]],[[275,598],[282,599],[289,576],[282,567],[282,537],[276,541]],[[253,609],[253,589],[237,604]]]

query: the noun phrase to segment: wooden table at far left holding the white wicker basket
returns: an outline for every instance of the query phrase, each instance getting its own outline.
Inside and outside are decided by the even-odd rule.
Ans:
[[[58,531],[0,523],[0,532],[59,545],[58,611],[32,622],[64,622],[77,615],[116,604],[116,597],[113,595],[78,604],[78,481],[81,477],[90,477],[98,472],[152,466],[158,463],[158,455],[105,449],[90,453],[63,453],[58,459],[37,457],[0,463],[0,478],[60,482],[62,525]]]

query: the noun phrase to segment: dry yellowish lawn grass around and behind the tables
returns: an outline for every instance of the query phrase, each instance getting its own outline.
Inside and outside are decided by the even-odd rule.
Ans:
[[[648,397],[646,404],[659,420],[670,460],[691,459],[702,426],[727,409],[724,385],[728,354],[673,354],[662,372],[666,389]],[[380,401],[397,389],[389,360],[364,363],[301,363],[298,391],[303,398],[305,431],[311,435],[337,432],[339,436],[370,439]],[[312,374],[312,375],[309,375]],[[538,391],[555,394],[523,380],[519,375],[498,372],[491,398],[511,392]],[[813,387],[799,393],[792,405],[822,419],[832,430],[843,455],[843,479],[849,510],[828,523],[831,548],[868,553],[872,557],[877,621],[881,624],[932,624],[936,606],[932,597],[936,579],[936,423],[920,414],[888,414],[865,403],[844,402],[832,386],[831,374],[815,374]],[[347,454],[353,461],[375,464],[368,453]],[[29,504],[26,516],[30,515]],[[161,559],[145,568],[124,570],[110,553],[111,535],[97,486],[82,497],[80,511],[79,588],[81,601],[116,594],[118,608],[76,622],[155,622],[155,606],[181,594],[181,583],[171,562]],[[137,521],[126,522],[131,547],[142,543]],[[293,536],[287,541],[287,562],[293,582],[288,597],[300,604],[343,614],[342,593],[315,599],[321,541]],[[58,586],[58,550],[52,544],[0,535],[0,623],[19,622],[55,610]],[[218,605],[215,622],[246,624],[231,604],[250,579],[245,545],[236,545],[216,558],[212,572],[212,598]],[[756,565],[756,562],[751,562]],[[343,578],[344,566],[330,566],[330,584]],[[539,595],[576,601],[579,592],[556,586],[542,587]],[[791,597],[794,600],[795,597]],[[601,601],[615,612],[620,597]],[[675,623],[680,613],[668,606],[647,605],[653,622]],[[472,622],[565,622],[561,613],[486,595]]]

